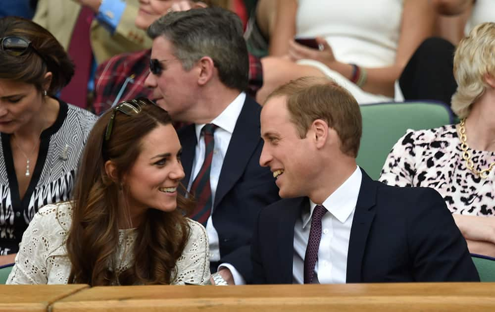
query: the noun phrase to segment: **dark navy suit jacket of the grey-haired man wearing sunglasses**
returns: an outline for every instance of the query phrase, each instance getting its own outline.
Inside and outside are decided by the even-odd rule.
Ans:
[[[259,165],[263,148],[260,112],[261,106],[246,97],[223,160],[212,214],[221,259],[211,268],[216,270],[222,262],[231,263],[247,282],[252,278],[250,243],[256,216],[261,208],[280,200],[272,172]],[[187,187],[197,144],[194,124],[180,129],[178,134],[186,173],[182,183]]]

